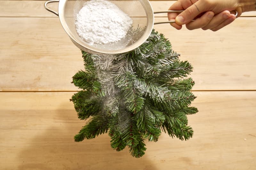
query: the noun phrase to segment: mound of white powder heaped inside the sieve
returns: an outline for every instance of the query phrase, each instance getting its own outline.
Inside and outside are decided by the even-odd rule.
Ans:
[[[76,32],[90,45],[120,41],[132,26],[132,19],[115,4],[104,0],[84,3],[76,15]]]

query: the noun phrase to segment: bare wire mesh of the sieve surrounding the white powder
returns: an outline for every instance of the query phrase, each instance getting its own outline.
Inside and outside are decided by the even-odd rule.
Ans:
[[[78,41],[81,45],[83,45],[83,46],[78,45],[80,49],[84,51],[88,51],[88,49],[85,48],[87,46],[87,47],[96,48],[99,51],[104,50],[104,51],[111,52],[113,50],[121,50],[134,44],[144,34],[144,28],[146,28],[147,26],[148,18],[147,18],[146,11],[143,5],[141,4],[140,0],[109,0],[109,2],[115,4],[120,10],[124,11],[124,13],[126,13],[129,17],[132,18],[133,27],[128,31],[126,36],[120,41],[108,43],[108,44],[90,45],[88,42],[80,38],[80,36],[76,32],[76,25],[75,25],[76,14],[80,11],[80,9],[83,7],[83,4],[85,2],[87,1],[86,0],[67,0],[64,6],[64,11],[63,11],[64,18],[70,33],[73,34],[74,39],[76,41]],[[104,13],[104,11],[102,12]],[[140,31],[137,30],[138,27],[141,28]]]

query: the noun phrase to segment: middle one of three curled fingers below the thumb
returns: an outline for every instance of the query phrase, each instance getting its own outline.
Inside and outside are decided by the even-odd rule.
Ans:
[[[203,30],[212,29],[220,25],[222,22],[224,22],[229,16],[230,16],[229,11],[222,11],[219,14],[215,15],[206,26],[202,27],[202,29]]]

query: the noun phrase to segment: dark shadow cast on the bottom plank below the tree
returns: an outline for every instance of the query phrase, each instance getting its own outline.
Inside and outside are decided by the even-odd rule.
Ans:
[[[66,107],[63,105],[50,111],[53,122],[47,123],[47,130],[36,135],[20,152],[19,169],[156,169],[145,156],[133,158],[128,148],[121,152],[113,150],[107,134],[74,142],[73,137],[84,122],[77,119],[74,109],[63,108]],[[48,110],[36,110],[36,114],[45,114],[46,111]]]

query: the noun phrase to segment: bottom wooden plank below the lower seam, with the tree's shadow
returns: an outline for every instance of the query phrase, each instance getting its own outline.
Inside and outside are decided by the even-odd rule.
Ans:
[[[108,135],[76,143],[84,125],[72,92],[1,92],[1,169],[254,169],[256,92],[195,92],[188,141],[162,134],[135,159],[110,148]]]

